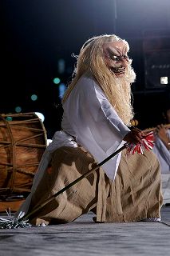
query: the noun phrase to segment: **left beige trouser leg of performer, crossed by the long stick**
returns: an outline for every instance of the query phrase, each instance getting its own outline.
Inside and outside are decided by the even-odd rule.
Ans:
[[[94,159],[81,147],[62,147],[53,153],[51,168],[45,171],[33,194],[30,210],[92,168]],[[39,225],[72,222],[97,205],[98,171],[65,190],[39,210],[32,223]]]

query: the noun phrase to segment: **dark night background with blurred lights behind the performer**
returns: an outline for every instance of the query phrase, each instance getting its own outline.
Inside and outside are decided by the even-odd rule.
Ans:
[[[117,34],[130,45],[132,85],[139,128],[162,122],[170,102],[169,0],[1,0],[0,113],[38,111],[48,138],[61,128],[61,99],[53,78],[67,84],[82,44],[99,34]],[[58,70],[58,60],[65,70]],[[154,66],[153,66],[154,65]],[[30,96],[38,95],[37,101]]]

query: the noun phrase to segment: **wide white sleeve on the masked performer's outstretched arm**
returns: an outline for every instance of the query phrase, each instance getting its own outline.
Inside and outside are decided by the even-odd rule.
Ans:
[[[93,83],[93,84],[92,84]],[[92,79],[81,93],[81,121],[88,123],[93,138],[107,151],[120,145],[130,131],[109,103],[101,88]]]

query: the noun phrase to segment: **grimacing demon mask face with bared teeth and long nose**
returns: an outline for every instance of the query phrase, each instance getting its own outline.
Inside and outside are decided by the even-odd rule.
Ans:
[[[128,49],[125,42],[106,42],[103,45],[105,63],[117,77],[124,76],[129,64]]]

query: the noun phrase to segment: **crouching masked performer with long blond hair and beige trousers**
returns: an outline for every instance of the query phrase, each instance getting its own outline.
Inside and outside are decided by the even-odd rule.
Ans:
[[[82,46],[63,98],[62,130],[45,150],[31,193],[16,216],[31,211],[125,142],[141,142],[144,134],[128,129],[135,80],[128,50],[128,42],[114,34],[90,38]],[[159,221],[161,205],[155,154],[144,150],[129,155],[124,150],[49,202],[31,222],[72,222],[89,210],[96,214],[95,222]]]

